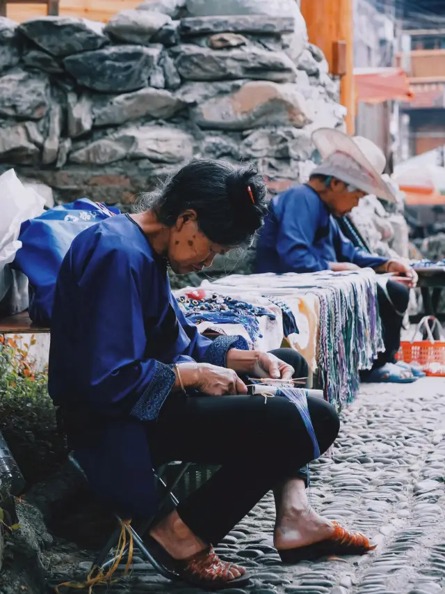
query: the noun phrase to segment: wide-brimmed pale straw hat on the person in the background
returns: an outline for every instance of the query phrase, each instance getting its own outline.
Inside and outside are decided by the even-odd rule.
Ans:
[[[393,190],[382,179],[387,159],[372,141],[332,128],[315,130],[312,140],[323,159],[312,175],[332,175],[366,194],[396,202]]]

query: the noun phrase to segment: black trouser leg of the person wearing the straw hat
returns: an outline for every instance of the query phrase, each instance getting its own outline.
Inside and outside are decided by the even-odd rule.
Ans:
[[[387,292],[391,302],[385,295],[385,290],[377,286],[378,307],[382,320],[383,342],[385,352],[380,352],[375,359],[373,369],[382,367],[385,363],[395,363],[396,353],[401,347],[401,331],[403,316],[410,301],[410,290],[402,283],[387,282]]]

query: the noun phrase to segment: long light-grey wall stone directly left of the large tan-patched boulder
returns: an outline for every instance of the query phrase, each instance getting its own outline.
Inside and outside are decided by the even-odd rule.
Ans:
[[[185,105],[170,91],[148,87],[95,102],[92,114],[95,126],[120,125],[138,118],[171,118]]]

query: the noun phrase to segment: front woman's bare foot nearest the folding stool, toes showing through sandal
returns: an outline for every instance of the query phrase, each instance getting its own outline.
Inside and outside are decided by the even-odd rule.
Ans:
[[[172,558],[177,561],[190,559],[188,563],[190,570],[197,573],[199,569],[199,572],[206,575],[208,579],[214,579],[212,576],[215,574],[224,573],[227,577],[226,581],[232,581],[245,574],[244,568],[220,561],[218,556],[213,553],[213,549],[206,556],[204,551],[209,549],[208,545],[193,534],[176,510],[161,519],[161,522],[156,524],[149,534]],[[202,554],[200,555],[200,553]],[[226,565],[227,567],[225,567]]]

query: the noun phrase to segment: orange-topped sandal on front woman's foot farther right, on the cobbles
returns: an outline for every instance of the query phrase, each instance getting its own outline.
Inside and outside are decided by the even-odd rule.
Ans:
[[[330,538],[315,542],[314,545],[297,547],[296,549],[282,549],[278,551],[282,563],[298,563],[298,561],[314,561],[319,557],[331,555],[364,555],[373,551],[377,545],[371,545],[366,536],[359,532],[348,532],[337,522]]]

